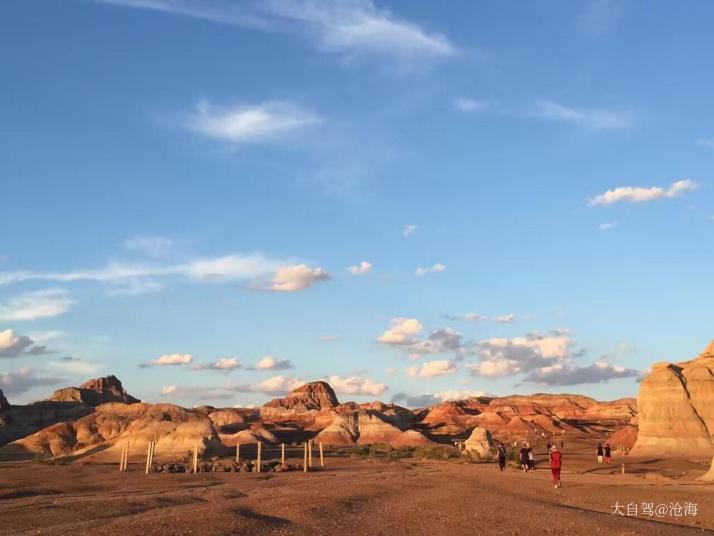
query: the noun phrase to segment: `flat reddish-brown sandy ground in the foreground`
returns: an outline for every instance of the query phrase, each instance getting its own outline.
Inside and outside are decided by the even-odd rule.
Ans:
[[[563,488],[541,465],[328,457],[305,474],[150,474],[116,464],[0,463],[0,534],[694,534],[714,529],[714,484],[686,460],[593,463],[565,451]],[[247,453],[246,453],[247,454]],[[270,456],[270,451],[266,456]],[[294,454],[297,461],[298,453]],[[696,516],[611,515],[619,502],[692,502]],[[624,513],[624,509],[623,509]]]

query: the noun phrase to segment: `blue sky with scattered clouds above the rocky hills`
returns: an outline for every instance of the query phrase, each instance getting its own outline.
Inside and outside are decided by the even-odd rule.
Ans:
[[[0,388],[635,395],[714,337],[713,17],[5,2]]]

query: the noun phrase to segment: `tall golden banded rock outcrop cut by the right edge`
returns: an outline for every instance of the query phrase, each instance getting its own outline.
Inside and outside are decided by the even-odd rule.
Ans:
[[[714,341],[697,358],[657,363],[637,397],[638,455],[714,454]]]

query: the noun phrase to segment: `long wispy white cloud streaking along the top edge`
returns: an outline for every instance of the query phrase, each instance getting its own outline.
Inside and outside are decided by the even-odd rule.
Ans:
[[[346,59],[384,58],[411,71],[454,57],[449,39],[380,9],[372,0],[97,0],[183,15],[235,27],[306,35],[324,53]]]

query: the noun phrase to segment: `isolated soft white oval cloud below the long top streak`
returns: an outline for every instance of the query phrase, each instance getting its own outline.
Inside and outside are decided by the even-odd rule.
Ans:
[[[219,108],[202,101],[185,122],[203,136],[232,143],[262,143],[284,137],[322,119],[295,104],[269,101],[256,105]]]

